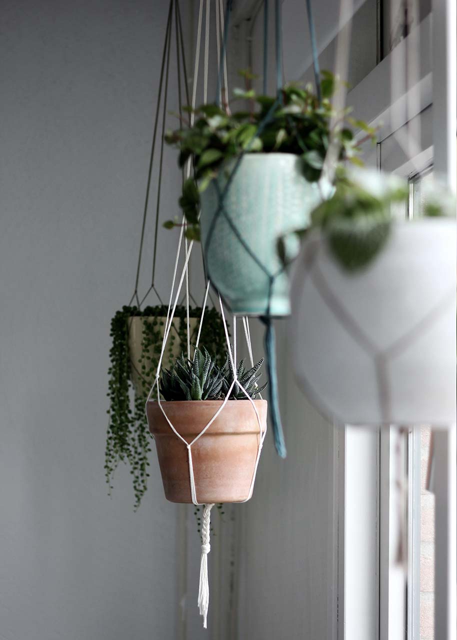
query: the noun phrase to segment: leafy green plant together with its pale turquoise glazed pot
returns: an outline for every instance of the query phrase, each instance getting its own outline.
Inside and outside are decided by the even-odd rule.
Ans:
[[[278,99],[238,90],[247,108],[226,113],[204,104],[192,127],[166,135],[180,150],[181,166],[193,159],[195,180],[184,184],[180,197],[188,236],[201,234],[209,276],[236,314],[289,313],[276,239],[306,226],[310,211],[330,195],[330,184],[317,184],[330,137],[337,157],[360,163],[353,130],[373,136],[348,110],[335,112],[334,88],[332,74],[324,72],[321,102],[310,86],[287,85]]]

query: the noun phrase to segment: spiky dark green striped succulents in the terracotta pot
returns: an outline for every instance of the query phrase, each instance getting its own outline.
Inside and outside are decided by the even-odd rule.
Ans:
[[[159,383],[160,393],[166,401],[185,400],[229,400],[255,399],[266,387],[266,383],[259,387],[258,382],[262,374],[257,374],[262,366],[263,358],[246,371],[245,361],[241,360],[237,368],[237,380],[234,382],[234,371],[225,353],[225,364],[218,365],[216,356],[209,355],[207,349],[195,349],[193,360],[188,360],[181,353],[170,369],[163,369]],[[230,390],[230,387],[232,389]],[[230,394],[229,394],[230,392]]]

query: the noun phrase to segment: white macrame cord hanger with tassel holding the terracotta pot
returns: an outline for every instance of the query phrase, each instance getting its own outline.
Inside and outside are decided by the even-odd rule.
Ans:
[[[198,12],[198,28],[197,28],[197,37],[196,37],[195,66],[194,66],[194,75],[193,75],[192,104],[191,104],[193,109],[195,109],[195,105],[196,105],[196,88],[197,88],[197,81],[198,81],[198,64],[199,64],[199,58],[200,58],[200,42],[201,42],[201,36],[202,36],[203,4],[204,4],[204,0],[200,0],[200,8],[199,8],[199,12]],[[205,4],[206,4],[206,8],[205,8],[205,54],[204,54],[204,102],[207,101],[207,87],[208,87],[209,19],[210,19],[210,4],[211,4],[210,0],[206,0]],[[220,42],[221,42],[221,39],[223,37],[223,33],[224,33],[223,0],[216,0],[216,39],[217,39],[217,52],[218,52],[218,67],[219,67],[220,55],[221,55]],[[225,90],[225,95],[227,95],[227,60],[225,59],[225,54],[224,54],[224,60],[223,60],[223,76],[224,76],[224,82],[225,82],[225,89],[224,89]],[[221,91],[222,91],[222,89],[221,89]],[[195,119],[195,114],[192,111],[191,114],[190,114],[190,125],[191,126],[193,125],[194,119]],[[191,164],[190,164],[190,160],[188,160],[188,163],[187,163],[187,166],[186,166],[186,178],[189,178],[190,172],[191,172]],[[224,308],[223,308],[223,304],[222,304],[220,296],[218,296],[218,298],[219,298],[219,306],[220,306],[220,311],[221,311],[221,316],[222,316],[222,321],[223,321],[223,326],[224,326],[225,339],[227,340],[227,353],[229,354],[230,365],[232,367],[232,371],[234,372],[234,380],[232,381],[232,384],[230,385],[230,388],[229,388],[229,390],[227,392],[227,395],[223,399],[223,403],[221,404],[221,406],[218,408],[216,413],[214,413],[214,415],[211,418],[211,420],[209,420],[209,422],[204,426],[202,431],[200,431],[200,433],[198,433],[198,435],[196,435],[195,438],[193,438],[193,440],[191,440],[191,442],[187,442],[187,440],[185,440],[178,433],[178,431],[175,429],[175,427],[173,426],[172,422],[170,421],[170,419],[168,419],[168,416],[166,415],[166,411],[164,410],[164,406],[163,406],[163,404],[166,406],[166,403],[162,403],[161,399],[160,399],[159,378],[160,378],[160,372],[161,372],[161,367],[162,367],[163,355],[164,355],[164,351],[165,351],[165,348],[166,348],[166,342],[168,340],[168,335],[170,334],[170,330],[172,329],[173,317],[174,317],[174,314],[175,314],[175,309],[177,307],[177,304],[178,304],[178,301],[179,301],[180,292],[182,290],[182,285],[184,284],[184,282],[185,282],[185,287],[186,287],[187,350],[188,350],[188,359],[189,360],[191,359],[190,328],[189,328],[189,258],[190,258],[191,252],[192,252],[194,241],[191,240],[191,242],[188,243],[188,241],[187,241],[187,239],[186,239],[186,237],[184,235],[185,229],[186,229],[186,220],[185,220],[185,218],[183,216],[182,225],[181,225],[180,234],[179,234],[178,248],[177,248],[177,253],[176,253],[176,258],[175,258],[175,266],[174,266],[174,269],[173,269],[172,288],[171,288],[171,291],[170,291],[170,300],[168,302],[168,311],[167,311],[167,316],[166,316],[163,344],[162,344],[162,348],[161,348],[159,364],[157,365],[156,377],[155,377],[154,383],[152,384],[150,392],[148,394],[147,401],[146,401],[146,406],[147,406],[147,403],[149,401],[151,401],[152,396],[154,394],[154,390],[156,390],[157,404],[159,405],[159,407],[161,409],[161,412],[163,413],[164,418],[166,419],[166,422],[168,422],[168,425],[170,426],[170,429],[172,429],[172,431],[175,434],[175,436],[177,438],[179,438],[179,440],[181,440],[181,442],[186,446],[186,448],[188,450],[189,484],[190,484],[190,489],[191,489],[192,502],[195,505],[202,505],[203,504],[203,506],[204,506],[203,516],[202,516],[202,545],[201,545],[201,557],[200,557],[200,585],[199,585],[199,589],[198,589],[198,607],[200,609],[200,615],[203,616],[203,626],[204,626],[204,628],[207,628],[207,614],[208,614],[208,608],[209,608],[208,554],[209,554],[209,552],[211,550],[211,545],[210,545],[210,541],[209,541],[209,538],[210,538],[210,517],[211,517],[211,509],[214,506],[214,503],[212,503],[212,504],[204,504],[202,502],[198,502],[198,495],[196,493],[195,476],[194,476],[194,470],[193,470],[192,446],[203,435],[205,435],[206,431],[211,427],[211,424],[214,422],[214,420],[216,420],[218,415],[220,415],[220,413],[223,411],[223,408],[227,404],[227,401],[229,401],[229,397],[230,397],[230,394],[232,392],[232,389],[233,389],[235,383],[237,383],[239,388],[245,394],[246,399],[248,399],[250,401],[250,403],[252,405],[252,408],[253,408],[253,411],[255,412],[255,416],[257,418],[257,424],[259,425],[259,438],[258,438],[258,445],[257,445],[257,457],[256,457],[256,460],[255,460],[255,466],[254,466],[254,470],[253,470],[253,474],[252,474],[250,490],[249,490],[248,497],[246,498],[246,500],[242,500],[242,502],[246,502],[252,496],[253,486],[254,486],[254,483],[255,483],[255,476],[257,474],[257,467],[259,465],[259,460],[260,460],[261,451],[262,451],[262,445],[263,445],[263,442],[264,442],[264,438],[266,436],[266,424],[263,425],[263,429],[262,429],[262,421],[261,421],[261,418],[259,416],[259,412],[257,411],[257,407],[255,406],[255,403],[254,403],[252,397],[249,396],[248,392],[246,392],[246,389],[243,387],[243,385],[241,385],[240,381],[237,379],[237,368],[236,368],[236,360],[237,360],[237,357],[236,357],[236,352],[237,352],[236,316],[233,316],[233,334],[234,335],[233,335],[233,350],[232,350],[232,346],[230,344],[229,330],[227,328],[227,321],[225,319],[225,312],[224,312]],[[179,256],[180,256],[180,251],[181,251],[181,247],[182,247],[183,238],[184,238],[184,256],[185,256],[184,266],[182,267],[182,272],[181,272],[181,275],[180,275],[180,278],[179,278],[179,283],[178,283],[177,289],[175,291],[175,284],[176,284],[176,280],[177,280],[177,272],[178,272],[178,264],[179,264]],[[208,281],[207,285],[206,285],[206,289],[205,289],[204,302],[203,302],[203,305],[202,305],[202,315],[200,317],[200,324],[198,326],[198,334],[197,334],[197,337],[196,337],[195,348],[198,348],[198,344],[200,342],[200,333],[202,331],[202,324],[203,324],[203,320],[204,320],[205,307],[206,307],[206,304],[207,304],[207,298],[208,298],[208,294],[209,294],[209,286],[210,286],[210,282]],[[242,321],[243,321],[243,330],[244,330],[245,339],[246,339],[246,346],[247,346],[247,349],[248,349],[248,354],[249,354],[251,366],[253,367],[254,362],[253,362],[253,355],[252,355],[252,344],[251,344],[251,338],[250,338],[250,330],[249,330],[248,318],[247,317],[242,317]],[[196,401],[196,402],[198,402],[198,401]]]

